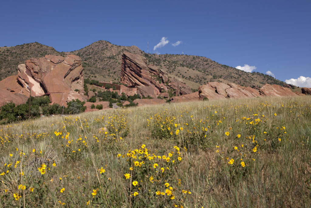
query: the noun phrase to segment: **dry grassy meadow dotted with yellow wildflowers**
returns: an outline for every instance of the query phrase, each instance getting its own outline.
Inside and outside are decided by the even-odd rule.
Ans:
[[[310,207],[311,96],[0,126],[0,207]]]

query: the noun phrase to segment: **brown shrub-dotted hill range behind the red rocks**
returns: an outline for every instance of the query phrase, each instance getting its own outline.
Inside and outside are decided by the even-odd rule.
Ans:
[[[146,54],[137,46],[118,46],[108,41],[96,41],[77,51],[58,52],[40,43],[27,43],[12,47],[0,47],[0,80],[16,75],[17,66],[30,58],[45,55],[66,56],[75,54],[82,59],[84,77],[100,81],[119,81],[123,52],[142,55],[148,64],[159,66],[172,77],[178,77],[193,89],[210,81],[235,83],[243,86],[261,87],[265,84],[285,85],[272,76],[258,72],[248,73],[219,64],[202,56]]]

